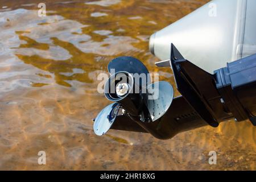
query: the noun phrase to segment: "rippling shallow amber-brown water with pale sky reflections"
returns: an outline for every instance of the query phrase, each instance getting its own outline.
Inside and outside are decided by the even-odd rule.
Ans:
[[[97,137],[92,118],[109,102],[97,75],[114,57],[134,56],[160,80],[149,36],[207,0],[0,1],[0,169],[255,170],[250,122],[222,123],[171,140],[110,131]],[[176,95],[178,95],[175,90]],[[38,165],[38,151],[47,164]],[[217,151],[217,165],[208,164]]]

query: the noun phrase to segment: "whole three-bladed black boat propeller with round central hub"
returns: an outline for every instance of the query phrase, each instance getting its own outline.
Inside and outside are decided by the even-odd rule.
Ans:
[[[93,125],[97,135],[104,135],[112,127],[119,109],[143,127],[143,123],[160,119],[171,106],[174,98],[172,86],[166,81],[150,84],[148,77],[146,82],[138,79],[143,74],[148,75],[147,68],[138,59],[117,57],[110,61],[108,70],[110,77],[105,83],[104,93],[114,103],[97,115]]]

